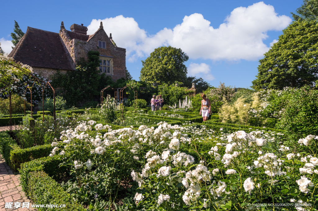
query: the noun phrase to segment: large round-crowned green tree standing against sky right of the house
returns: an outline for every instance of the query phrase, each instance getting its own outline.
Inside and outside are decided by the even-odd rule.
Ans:
[[[188,61],[182,50],[175,47],[159,47],[142,61],[140,80],[153,84],[173,84],[175,81],[184,81],[188,73],[184,62]]]

